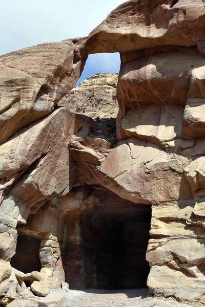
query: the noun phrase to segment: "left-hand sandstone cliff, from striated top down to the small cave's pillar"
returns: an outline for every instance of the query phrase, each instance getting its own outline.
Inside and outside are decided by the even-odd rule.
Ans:
[[[35,226],[17,231],[16,227],[26,225],[30,214],[42,207],[49,211],[44,206],[47,201],[67,194],[73,187],[75,171],[69,153],[70,141],[79,123],[87,125],[87,130],[92,124],[67,108],[54,109],[54,106],[73,88],[83,70],[87,58],[85,41],[79,38],[45,43],[0,57],[0,142],[3,142],[0,146],[0,296],[5,297],[4,303],[18,297],[32,299],[34,296],[27,287],[33,283],[33,293],[45,296],[51,288],[59,288],[64,280],[57,224],[53,223],[57,213],[51,210],[42,225],[38,220],[37,229]],[[36,215],[38,219],[41,216],[43,213]],[[12,268],[10,260],[19,251],[16,249],[18,234],[19,244],[24,238],[26,244],[19,246],[22,260],[15,255]],[[39,246],[37,243],[35,248],[36,240]],[[25,258],[29,244],[32,248]],[[38,261],[34,260],[32,266],[33,258]],[[24,264],[20,266],[19,261]],[[32,272],[37,262],[37,272]],[[25,272],[16,270],[15,266]],[[40,292],[43,288],[45,291]]]

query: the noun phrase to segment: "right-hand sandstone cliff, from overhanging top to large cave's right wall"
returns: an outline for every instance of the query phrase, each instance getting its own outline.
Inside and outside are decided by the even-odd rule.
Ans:
[[[119,142],[89,174],[76,160],[79,180],[152,205],[151,293],[198,302],[205,281],[204,13],[201,0],[133,0],[90,33],[89,53],[120,52]]]

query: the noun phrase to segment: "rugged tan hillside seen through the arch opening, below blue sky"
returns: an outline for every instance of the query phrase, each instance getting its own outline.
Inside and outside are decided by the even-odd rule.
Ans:
[[[106,139],[111,146],[116,143],[117,80],[118,74],[95,74],[74,87],[58,103],[72,112],[93,118],[98,131],[92,136]]]

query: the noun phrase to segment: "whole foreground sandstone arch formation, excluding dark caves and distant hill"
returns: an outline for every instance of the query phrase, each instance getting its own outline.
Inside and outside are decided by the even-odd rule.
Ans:
[[[131,0],[88,39],[0,57],[1,302],[35,299],[28,279],[39,296],[60,286],[70,213],[93,201],[86,185],[152,205],[150,293],[204,302],[204,14],[202,0]],[[93,121],[54,109],[96,52],[121,52],[113,149],[79,136]],[[17,231],[40,238],[40,274],[11,267]]]

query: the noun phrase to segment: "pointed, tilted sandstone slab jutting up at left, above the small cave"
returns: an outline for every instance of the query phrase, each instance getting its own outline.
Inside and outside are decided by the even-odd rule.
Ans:
[[[74,123],[73,113],[66,108],[58,108],[1,146],[2,223],[9,223],[12,227],[16,227],[17,222],[25,224],[34,205],[43,202],[42,206],[48,196],[64,194],[72,188],[74,169],[69,165],[72,161],[69,160],[68,145],[74,133]],[[58,137],[60,130],[61,140]],[[5,189],[8,191],[4,182],[11,180],[13,183],[20,175],[11,188],[10,196],[4,197]],[[42,178],[45,180],[42,181]]]

